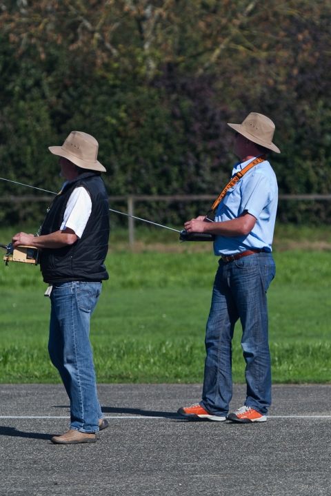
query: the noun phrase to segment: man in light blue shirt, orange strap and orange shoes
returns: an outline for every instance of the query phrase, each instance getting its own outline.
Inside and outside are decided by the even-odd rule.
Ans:
[[[271,245],[278,199],[277,179],[265,154],[280,151],[272,143],[274,123],[270,118],[252,112],[241,125],[229,125],[236,131],[233,152],[240,159],[232,178],[239,180],[225,188],[214,222],[199,216],[185,223],[189,234],[214,234],[214,254],[221,258],[205,335],[202,400],[178,412],[219,422],[265,422],[271,404],[266,292],[275,275]],[[247,394],[244,406],[228,415],[231,342],[239,318]]]

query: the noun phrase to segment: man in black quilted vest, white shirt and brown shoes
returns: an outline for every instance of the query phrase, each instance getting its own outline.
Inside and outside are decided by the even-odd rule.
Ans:
[[[50,296],[48,351],[70,398],[70,429],[52,437],[55,444],[95,442],[95,433],[108,427],[97,397],[90,316],[98,302],[108,251],[109,210],[101,179],[105,167],[97,161],[97,140],[73,131],[61,147],[50,147],[60,156],[66,178],[41,227],[41,235],[19,233],[14,246],[40,248],[41,272]]]

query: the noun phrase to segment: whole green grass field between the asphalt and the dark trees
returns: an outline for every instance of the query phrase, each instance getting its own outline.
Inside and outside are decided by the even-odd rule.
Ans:
[[[275,243],[277,276],[268,291],[273,381],[330,382],[331,253],[284,245],[291,239],[328,243],[330,238],[321,230],[306,228],[303,236],[301,229],[294,236],[286,229]],[[12,234],[12,229],[0,231],[0,242]],[[203,380],[205,321],[217,258],[209,243],[177,245],[176,234],[170,241],[164,236],[138,230],[138,248],[130,251],[126,232],[112,233],[106,261],[110,280],[91,321],[98,382]],[[0,382],[60,382],[48,358],[45,289],[39,267],[0,265]],[[235,382],[244,382],[240,338],[238,325]]]

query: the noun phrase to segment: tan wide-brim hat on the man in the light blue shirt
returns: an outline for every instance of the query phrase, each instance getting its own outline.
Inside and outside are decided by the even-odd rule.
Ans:
[[[253,143],[271,149],[272,152],[281,153],[281,150],[272,143],[275,127],[270,118],[251,112],[242,124],[228,123],[228,125]]]

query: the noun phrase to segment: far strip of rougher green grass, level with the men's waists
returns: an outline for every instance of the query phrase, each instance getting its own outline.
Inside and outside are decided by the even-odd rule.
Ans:
[[[212,249],[210,244],[210,249]],[[331,287],[331,257],[325,251],[283,251],[274,254],[277,276],[272,285],[307,285],[317,289]],[[1,260],[0,260],[1,261]],[[146,251],[110,253],[106,267],[110,279],[105,289],[139,288],[212,288],[218,259],[210,253],[183,254]],[[6,289],[39,289],[42,281],[39,267],[0,263],[0,291]]]

